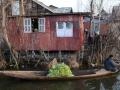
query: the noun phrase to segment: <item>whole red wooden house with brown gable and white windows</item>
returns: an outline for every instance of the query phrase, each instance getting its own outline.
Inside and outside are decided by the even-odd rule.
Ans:
[[[38,0],[26,0],[20,6],[18,3],[19,0],[14,2],[12,13],[8,12],[8,35],[15,49],[80,50],[84,39],[83,16],[88,13],[72,13],[71,8],[61,12],[56,8],[59,13]],[[21,13],[23,16],[18,17]]]

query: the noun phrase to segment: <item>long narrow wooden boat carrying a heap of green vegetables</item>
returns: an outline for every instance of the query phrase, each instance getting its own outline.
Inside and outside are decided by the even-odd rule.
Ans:
[[[104,69],[100,69],[95,73],[80,74],[72,77],[49,77],[49,76],[45,76],[45,73],[46,73],[45,71],[0,71],[0,75],[2,76],[26,79],[26,80],[79,80],[79,79],[105,77],[116,74],[116,72],[106,71]]]

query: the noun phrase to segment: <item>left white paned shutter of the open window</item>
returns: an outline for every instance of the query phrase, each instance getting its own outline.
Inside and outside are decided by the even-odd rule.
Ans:
[[[24,32],[31,32],[31,18],[24,18]]]

